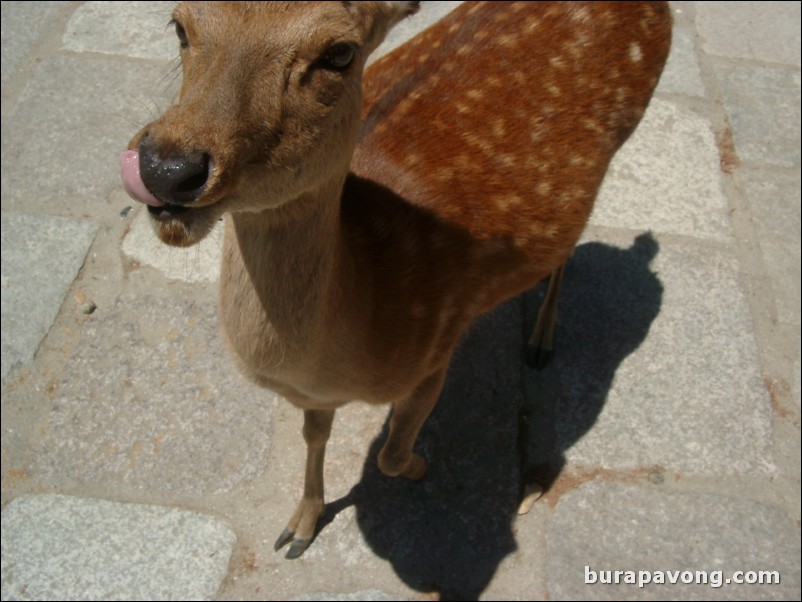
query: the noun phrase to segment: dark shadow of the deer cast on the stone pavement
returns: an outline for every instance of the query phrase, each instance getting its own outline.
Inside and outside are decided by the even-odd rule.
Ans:
[[[662,285],[650,270],[658,244],[578,246],[560,294],[555,353],[543,370],[523,364],[543,284],[480,317],[463,338],[416,449],[419,482],[388,478],[373,441],[361,481],[327,505],[320,527],[354,505],[372,550],[411,588],[478,599],[517,549],[513,519],[524,483],[546,489],[565,451],[592,428],[619,364],[646,337]]]

